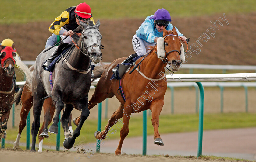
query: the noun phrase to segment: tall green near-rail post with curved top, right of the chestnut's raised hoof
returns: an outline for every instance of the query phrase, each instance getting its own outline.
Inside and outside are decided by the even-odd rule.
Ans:
[[[203,122],[204,122],[204,87],[201,82],[196,82],[200,91],[199,102],[199,123],[198,123],[198,148],[197,158],[202,155],[202,142],[203,142]]]

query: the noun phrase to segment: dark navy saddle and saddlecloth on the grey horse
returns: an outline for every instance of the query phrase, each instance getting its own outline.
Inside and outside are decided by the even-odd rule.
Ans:
[[[66,53],[70,53],[73,49],[70,49],[72,44],[69,43],[62,43],[57,48],[57,57],[52,61],[52,63],[49,65],[48,69],[44,69],[46,71],[53,72],[55,64],[59,62],[61,59],[61,54],[63,56],[66,55]],[[70,50],[69,50],[70,49]]]

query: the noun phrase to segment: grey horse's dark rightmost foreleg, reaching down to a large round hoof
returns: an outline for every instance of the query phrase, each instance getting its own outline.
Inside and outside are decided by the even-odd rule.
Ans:
[[[74,105],[76,107],[76,105]],[[77,105],[78,109],[82,109],[81,111],[81,119],[80,122],[78,123],[78,126],[76,127],[76,129],[74,130],[73,136],[69,137],[68,139],[66,139],[63,142],[63,146],[66,149],[71,149],[75,143],[76,137],[78,137],[80,135],[80,131],[82,129],[82,126],[84,124],[84,121],[88,118],[90,111],[88,109],[88,98],[86,97],[85,101],[83,103],[80,103],[79,105]]]

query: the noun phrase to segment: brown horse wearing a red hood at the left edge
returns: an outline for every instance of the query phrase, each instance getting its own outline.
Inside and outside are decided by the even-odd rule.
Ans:
[[[6,138],[7,121],[14,98],[14,56],[12,47],[6,46],[0,54],[0,137]]]

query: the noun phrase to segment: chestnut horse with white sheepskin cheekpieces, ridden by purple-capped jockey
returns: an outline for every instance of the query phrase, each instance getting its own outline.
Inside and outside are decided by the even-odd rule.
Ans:
[[[96,131],[94,133],[97,139],[105,139],[109,129],[118,119],[123,117],[123,127],[120,130],[120,141],[115,151],[116,155],[121,153],[123,140],[129,133],[128,125],[131,114],[147,109],[150,109],[152,112],[151,121],[154,127],[154,143],[160,146],[164,145],[158,131],[159,115],[164,105],[164,95],[167,89],[164,71],[166,63],[171,65],[173,71],[177,71],[181,66],[181,42],[175,28],[173,28],[172,31],[167,31],[164,28],[163,32],[164,38],[158,38],[157,46],[154,46],[147,57],[141,62],[140,69],[137,68],[137,71],[123,75],[120,84],[122,89],[119,92],[119,80],[110,80],[110,78],[113,74],[112,69],[125,60],[125,58],[119,58],[106,66],[105,71],[102,72],[98,84],[96,85],[94,94],[89,101],[89,109],[114,95],[121,103],[119,108],[108,120],[105,130],[102,132]],[[142,59],[142,57],[138,59],[135,64]],[[130,72],[132,68],[133,66],[128,72]],[[124,99],[120,94],[124,95]]]

